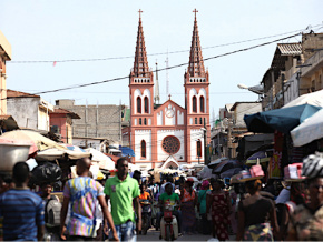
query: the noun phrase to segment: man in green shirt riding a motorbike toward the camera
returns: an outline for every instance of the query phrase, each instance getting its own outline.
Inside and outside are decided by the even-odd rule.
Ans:
[[[176,219],[178,221],[178,233],[180,233],[180,231],[182,231],[182,212],[179,210],[175,210],[176,205],[178,205],[178,206],[180,205],[180,200],[179,200],[178,194],[173,192],[172,183],[167,183],[166,184],[165,193],[159,195],[158,203],[159,203],[159,206],[163,208],[163,209],[161,209],[161,212],[157,213],[156,230],[158,230],[158,228],[160,226],[160,220],[161,220],[161,216],[164,215],[164,205],[165,204],[170,204],[170,205],[173,205],[172,213],[173,213],[173,215],[176,216]]]

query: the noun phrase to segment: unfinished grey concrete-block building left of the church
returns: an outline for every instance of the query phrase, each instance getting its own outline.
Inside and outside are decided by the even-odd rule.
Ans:
[[[99,150],[105,140],[109,144],[123,144],[123,110],[125,105],[76,105],[75,100],[57,100],[56,108],[66,109],[77,113],[72,124],[74,144],[92,147]]]

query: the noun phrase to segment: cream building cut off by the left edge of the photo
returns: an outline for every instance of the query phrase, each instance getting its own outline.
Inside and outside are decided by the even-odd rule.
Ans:
[[[6,62],[11,60],[11,44],[0,30],[0,115],[7,114]]]

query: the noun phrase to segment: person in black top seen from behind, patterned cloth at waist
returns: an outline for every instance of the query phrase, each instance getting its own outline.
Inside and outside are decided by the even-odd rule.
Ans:
[[[273,241],[273,232],[275,238],[278,235],[274,202],[260,194],[262,188],[260,179],[248,178],[245,182],[249,196],[246,196],[238,204],[236,240]]]

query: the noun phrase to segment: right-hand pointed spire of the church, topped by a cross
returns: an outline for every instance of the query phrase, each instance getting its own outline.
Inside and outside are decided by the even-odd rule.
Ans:
[[[198,36],[197,20],[196,20],[196,9],[193,11],[195,13],[192,47],[189,53],[189,64],[188,73],[190,77],[205,77],[204,61],[202,56],[202,48]]]

